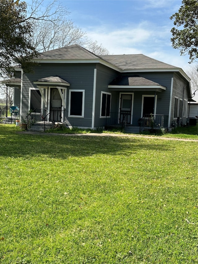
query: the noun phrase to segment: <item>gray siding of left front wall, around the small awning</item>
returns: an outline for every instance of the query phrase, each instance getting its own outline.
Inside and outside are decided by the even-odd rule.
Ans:
[[[66,80],[70,83],[70,86],[67,87],[67,123],[71,126],[91,127],[94,68],[95,64],[88,63],[42,63],[39,67],[34,69],[33,75],[28,74],[27,77],[24,76],[22,109],[23,115],[28,112],[29,88],[36,87],[36,85],[33,84],[33,81],[49,76],[59,76],[63,80]],[[84,118],[68,117],[69,89],[85,90]]]

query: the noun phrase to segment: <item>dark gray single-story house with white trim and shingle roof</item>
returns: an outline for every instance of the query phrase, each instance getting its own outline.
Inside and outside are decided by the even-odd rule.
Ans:
[[[17,68],[14,105],[69,127],[105,125],[170,128],[185,124],[190,78],[179,67],[143,54],[97,56],[79,45],[39,54],[33,74]],[[17,80],[17,81],[16,81]],[[152,115],[151,115],[152,114]]]

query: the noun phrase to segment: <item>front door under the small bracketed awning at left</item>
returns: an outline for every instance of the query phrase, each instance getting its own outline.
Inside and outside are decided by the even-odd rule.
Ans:
[[[51,88],[50,90],[50,121],[61,122],[61,108],[62,99],[57,88]]]

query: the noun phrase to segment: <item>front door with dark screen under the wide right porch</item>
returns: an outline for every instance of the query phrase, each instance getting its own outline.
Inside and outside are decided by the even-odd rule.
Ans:
[[[121,94],[120,98],[120,123],[131,123],[132,94]]]

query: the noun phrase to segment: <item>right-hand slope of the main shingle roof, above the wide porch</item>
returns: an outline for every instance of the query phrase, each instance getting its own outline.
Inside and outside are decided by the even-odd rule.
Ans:
[[[143,54],[104,55],[101,58],[122,70],[178,68]]]

